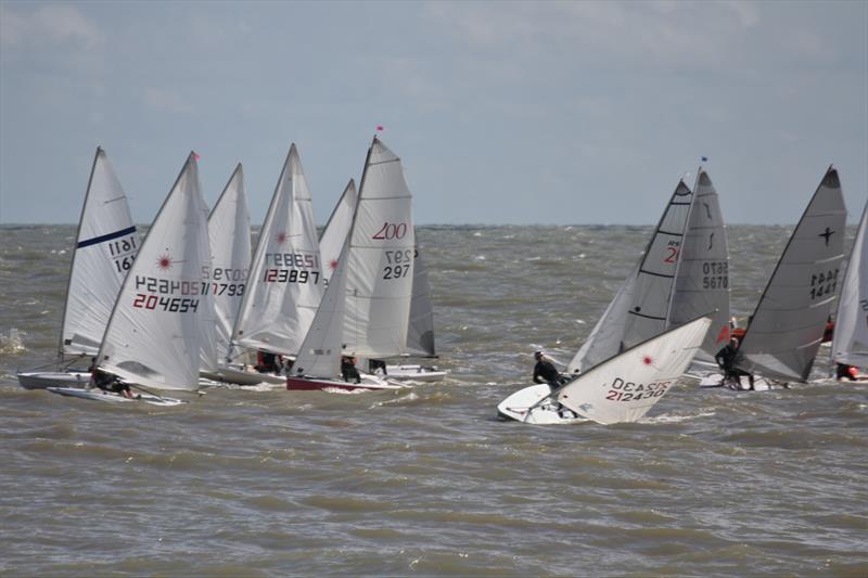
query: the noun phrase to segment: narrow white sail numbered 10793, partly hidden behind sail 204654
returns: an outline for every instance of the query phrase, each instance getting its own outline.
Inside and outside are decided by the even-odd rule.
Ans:
[[[229,355],[232,327],[247,286],[251,267],[251,217],[239,163],[208,217],[210,281],[214,293],[217,359]],[[204,369],[204,367],[203,367]]]

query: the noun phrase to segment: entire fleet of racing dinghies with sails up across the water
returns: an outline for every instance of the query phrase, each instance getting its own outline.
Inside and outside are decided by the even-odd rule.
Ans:
[[[829,167],[739,345],[735,367],[755,375],[752,388],[807,381],[839,290],[832,360],[868,365],[867,214],[868,205],[841,275],[846,209]],[[184,401],[154,389],[195,391],[219,381],[365,391],[439,380],[445,371],[407,359],[437,357],[422,253],[400,158],[376,137],[358,191],[349,180],[320,237],[292,144],[253,253],[240,164],[209,213],[190,153],[140,242],[124,190],[98,149],[56,367],[20,373],[18,381],[85,399],[177,406]],[[676,185],[560,384],[524,387],[498,404],[498,414],[529,424],[633,422],[688,370],[702,387],[743,389],[714,361],[729,342],[729,316],[727,233],[717,191],[700,167],[692,191],[682,180]],[[283,363],[273,372],[254,368],[254,352]],[[354,367],[357,359],[365,371]],[[87,370],[73,369],[85,362]],[[94,387],[95,375],[123,387]]]

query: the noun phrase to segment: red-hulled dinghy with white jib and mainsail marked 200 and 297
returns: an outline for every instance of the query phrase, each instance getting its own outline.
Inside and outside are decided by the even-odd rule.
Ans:
[[[286,380],[288,389],[401,387],[370,374],[361,383],[344,381],[341,358],[407,352],[414,239],[412,195],[400,159],[374,137],[337,267]]]

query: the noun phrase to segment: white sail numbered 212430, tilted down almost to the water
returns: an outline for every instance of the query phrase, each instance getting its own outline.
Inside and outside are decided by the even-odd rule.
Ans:
[[[564,385],[557,400],[601,424],[641,419],[678,382],[711,322],[701,317],[604,361]]]

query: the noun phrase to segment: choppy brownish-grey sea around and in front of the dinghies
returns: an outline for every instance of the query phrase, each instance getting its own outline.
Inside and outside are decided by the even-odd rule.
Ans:
[[[791,230],[728,229],[735,314]],[[54,358],[75,228],[3,226],[0,575],[868,576],[866,384],[685,382],[635,424],[497,420],[650,232],[420,228],[447,380],[156,408],[17,386]]]

